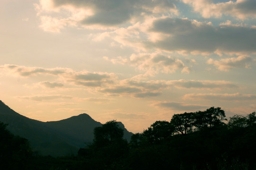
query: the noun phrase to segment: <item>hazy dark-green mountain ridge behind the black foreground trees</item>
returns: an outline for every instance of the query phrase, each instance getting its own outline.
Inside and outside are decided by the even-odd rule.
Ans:
[[[42,122],[29,119],[10,109],[0,101],[0,121],[8,124],[8,129],[14,135],[25,137],[31,147],[42,155],[65,156],[76,154],[85,143],[93,140],[93,129],[102,126],[88,114],[80,114],[59,121]],[[124,129],[124,138],[128,141],[131,132],[119,122]]]

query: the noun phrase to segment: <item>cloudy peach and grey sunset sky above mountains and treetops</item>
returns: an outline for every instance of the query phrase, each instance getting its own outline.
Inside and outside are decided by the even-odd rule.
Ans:
[[[0,100],[142,132],[174,114],[256,111],[256,0],[0,0]]]

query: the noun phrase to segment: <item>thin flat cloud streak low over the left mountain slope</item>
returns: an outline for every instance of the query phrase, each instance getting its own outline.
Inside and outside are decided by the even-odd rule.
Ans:
[[[73,97],[70,95],[61,95],[61,94],[53,94],[53,95],[31,95],[31,96],[17,96],[19,99],[27,99],[34,101],[45,101],[45,100],[53,100],[53,99],[72,99]]]

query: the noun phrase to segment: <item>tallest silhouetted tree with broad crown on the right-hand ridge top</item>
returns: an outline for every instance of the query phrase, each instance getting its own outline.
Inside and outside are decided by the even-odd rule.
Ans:
[[[224,124],[223,120],[227,120],[225,117],[225,111],[221,110],[220,107],[197,111],[194,114],[194,126],[198,129],[220,126]]]

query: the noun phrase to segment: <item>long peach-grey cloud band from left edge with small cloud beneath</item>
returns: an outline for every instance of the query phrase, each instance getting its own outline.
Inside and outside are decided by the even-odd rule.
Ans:
[[[11,75],[22,77],[50,75],[61,79],[66,83],[73,85],[81,85],[86,87],[100,87],[113,84],[118,77],[114,73],[89,72],[89,71],[74,71],[71,68],[39,68],[25,67],[18,65],[5,64],[0,66],[0,69],[10,72]],[[64,84],[57,82],[41,82],[41,85],[46,87],[62,87]]]

